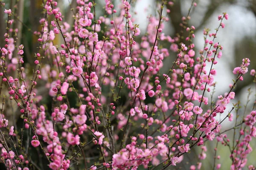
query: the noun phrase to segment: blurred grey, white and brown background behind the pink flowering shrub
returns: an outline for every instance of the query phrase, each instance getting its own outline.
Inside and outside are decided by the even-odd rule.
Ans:
[[[76,10],[76,0],[56,0],[58,2],[58,7],[61,8],[61,13],[64,14],[64,21],[73,24],[73,15],[70,10]],[[95,0],[97,3],[96,6],[96,16],[103,16],[105,10],[104,0]],[[114,0],[116,6],[120,3],[121,0]],[[179,26],[181,22],[181,17],[186,16],[188,9],[191,5],[192,0],[174,0],[174,6],[167,8],[170,9],[170,13],[167,14],[166,10],[163,14],[166,17],[169,17],[169,22],[165,23],[165,28],[163,29],[164,34],[175,37],[177,33],[181,31]],[[33,66],[33,55],[37,51],[37,39],[38,37],[33,35],[34,31],[40,31],[41,26],[39,20],[43,17],[42,14],[42,0],[2,0],[6,3],[6,8],[11,8],[15,12],[15,15],[12,16],[13,20],[16,22],[12,25],[12,28],[18,28],[20,31],[17,33],[17,44],[24,45],[24,61],[25,67],[31,68]],[[222,51],[223,56],[218,60],[218,64],[214,66],[217,70],[217,76],[215,80],[218,82],[216,85],[215,97],[218,95],[223,95],[226,91],[229,91],[229,85],[232,83],[232,79],[235,79],[233,75],[233,68],[238,67],[241,64],[243,58],[247,57],[251,60],[249,65],[250,69],[256,69],[256,0],[195,0],[197,7],[193,8],[191,11],[191,20],[189,21],[189,26],[195,26],[195,51],[199,51],[204,46],[203,38],[203,29],[210,28],[212,32],[218,27],[218,15],[223,12],[229,14],[229,20],[225,21],[226,27],[218,31],[218,36],[216,42],[219,42],[224,49]],[[133,16],[136,18],[136,24],[139,24],[141,34],[143,35],[146,32],[146,27],[148,23],[148,16],[158,16],[157,14],[157,4],[159,0],[131,0],[133,6]],[[116,8],[118,10],[118,8]],[[6,29],[6,25],[3,24],[7,20],[6,15],[4,14],[4,8],[0,8],[0,45],[3,46],[4,38],[3,34]],[[137,41],[140,41],[140,38],[137,38]],[[62,37],[58,37],[55,40],[55,44],[61,44]],[[166,48],[169,48],[170,44],[163,45]],[[172,63],[176,58],[176,54],[170,52],[170,56],[166,59],[165,62]],[[165,73],[169,68],[163,68],[162,71]],[[209,68],[207,69],[209,70]],[[236,92],[236,100],[233,102],[238,102],[238,99],[241,102],[241,106],[246,105],[248,91],[247,89],[251,88],[252,95],[250,95],[250,102],[247,105],[247,110],[245,112],[250,112],[252,110],[253,101],[255,101],[254,94],[256,93],[255,84],[253,83],[253,77],[247,74],[244,76],[244,81],[239,82],[234,91]],[[39,89],[41,94],[48,94],[46,88],[42,87]],[[209,95],[208,95],[209,97]],[[47,99],[47,96],[46,96]],[[47,101],[47,100],[45,100]],[[49,101],[48,101],[49,102]],[[49,104],[49,103],[48,103]],[[6,109],[13,111],[12,104],[6,103]],[[227,108],[226,111],[231,109]],[[244,107],[240,109],[238,114],[243,114]],[[227,112],[223,113],[226,115]],[[236,116],[235,113],[234,117]],[[222,117],[221,117],[222,118]],[[220,118],[220,119],[221,119]],[[18,122],[17,122],[18,125]],[[223,130],[229,129],[234,125],[234,122],[225,121],[223,123]],[[230,131],[230,135],[233,134],[233,131]],[[214,142],[208,143],[207,158],[203,160],[202,170],[212,169],[213,156],[214,156],[214,147],[216,145]],[[256,143],[252,143],[251,147],[254,149],[250,153],[247,164],[256,165]],[[221,164],[221,170],[230,169],[231,161],[229,159],[230,152],[228,147],[219,145],[217,155],[221,155],[221,159],[217,163]],[[38,151],[37,151],[38,152]],[[34,152],[33,154],[37,154]],[[172,167],[173,169],[189,169],[191,164],[198,162],[198,153],[201,150],[198,147],[195,147],[191,150],[192,153],[185,154],[182,164],[179,164],[177,167]],[[32,154],[32,153],[31,153]],[[35,159],[35,164],[44,163],[44,160],[41,158]],[[0,167],[2,169],[3,167]],[[171,169],[171,167],[170,167]],[[246,169],[246,168],[245,168]]]

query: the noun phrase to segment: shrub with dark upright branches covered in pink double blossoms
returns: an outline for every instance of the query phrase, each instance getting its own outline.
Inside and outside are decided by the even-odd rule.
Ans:
[[[96,0],[76,2],[74,23],[69,25],[56,1],[43,0],[45,17],[40,20],[41,32],[34,32],[38,51],[34,51],[31,70],[24,65],[24,45],[16,44],[15,34],[10,36],[14,30],[9,27],[16,21],[9,17],[14,13],[4,11],[8,20],[6,33],[1,33],[6,44],[0,48],[0,147],[7,169],[38,168],[28,150],[37,150],[52,170],[169,169],[193,147],[201,150],[199,159],[205,159],[209,149],[205,143],[213,140],[230,148],[232,170],[255,169],[247,164],[250,142],[256,137],[255,104],[241,120],[233,116],[239,103],[227,110],[250,59],[244,58],[234,68],[236,79],[230,91],[214,93],[214,78],[220,74],[215,65],[227,55],[217,39],[227,13],[216,17],[219,25],[213,32],[204,29],[204,47],[198,47],[202,48],[198,52],[193,43],[196,28],[189,26],[194,2],[181,18],[183,31],[177,37],[164,34],[163,23],[169,18],[163,9],[172,8],[173,2],[163,1],[156,7],[159,13],[149,17],[145,35],[134,22],[130,1],[114,6],[105,0],[104,16],[96,14]],[[55,44],[57,36],[62,44]],[[169,53],[177,54],[172,63],[166,62]],[[162,68],[169,71],[163,73]],[[255,77],[255,70],[250,75]],[[47,88],[50,105],[45,104],[40,87]],[[6,119],[13,114],[4,109],[7,101],[18,108],[14,118],[22,119],[21,129],[15,125],[17,120],[9,124]],[[221,114],[224,119],[219,119]],[[221,130],[225,119],[236,121],[229,129],[239,133],[233,142],[228,130]],[[217,147],[211,156],[213,169],[221,167],[216,152]],[[192,162],[190,169],[196,168],[201,168],[201,162]]]

